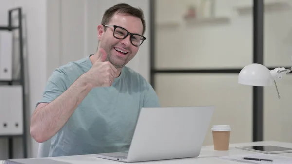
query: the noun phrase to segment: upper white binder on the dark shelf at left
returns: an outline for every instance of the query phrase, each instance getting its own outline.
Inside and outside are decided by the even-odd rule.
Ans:
[[[11,31],[0,31],[0,80],[12,80],[13,35]]]

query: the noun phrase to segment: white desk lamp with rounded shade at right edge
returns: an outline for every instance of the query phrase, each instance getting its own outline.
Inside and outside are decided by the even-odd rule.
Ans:
[[[245,66],[239,73],[238,83],[251,86],[271,86],[274,80],[278,97],[280,97],[276,80],[281,80],[283,75],[290,73],[292,68],[285,69],[284,67],[278,67],[273,70],[269,70],[267,67],[253,63]]]

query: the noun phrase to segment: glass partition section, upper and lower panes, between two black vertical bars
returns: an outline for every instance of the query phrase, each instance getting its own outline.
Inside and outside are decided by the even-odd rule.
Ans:
[[[237,82],[253,62],[252,0],[154,0],[153,86],[163,106],[215,105],[210,128],[253,140],[253,90]],[[208,131],[204,145],[212,145]]]

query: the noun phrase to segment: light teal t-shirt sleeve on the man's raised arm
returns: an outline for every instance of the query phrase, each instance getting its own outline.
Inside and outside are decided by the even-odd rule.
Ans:
[[[45,91],[42,94],[42,98],[37,102],[37,105],[39,103],[50,103],[60,96],[67,90],[66,81],[68,81],[66,74],[62,70],[56,69],[49,77]]]

